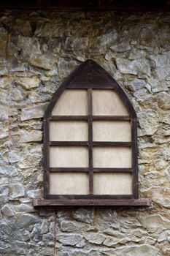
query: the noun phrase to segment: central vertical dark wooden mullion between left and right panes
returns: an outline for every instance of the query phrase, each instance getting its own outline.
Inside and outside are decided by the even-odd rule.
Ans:
[[[88,89],[88,165],[89,194],[93,195],[93,127],[92,127],[92,89]]]

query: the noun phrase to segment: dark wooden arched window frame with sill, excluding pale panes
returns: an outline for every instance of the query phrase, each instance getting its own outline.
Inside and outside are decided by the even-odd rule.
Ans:
[[[93,179],[93,160],[92,160],[92,120],[129,120],[131,121],[131,150],[132,150],[132,195],[93,195],[93,182],[89,181],[90,195],[50,195],[50,121],[72,120],[66,116],[51,116],[55,103],[66,89],[87,89],[88,90],[88,150],[89,150],[89,176]],[[93,89],[114,89],[120,99],[123,100],[129,116],[92,116],[92,90]],[[95,118],[95,119],[94,119]],[[75,119],[75,117],[74,117]],[[82,116],[77,116],[77,120],[83,120]],[[138,149],[137,149],[137,118],[133,105],[127,95],[116,82],[114,78],[96,62],[87,60],[69,75],[61,86],[53,94],[53,98],[45,111],[43,120],[44,126],[44,146],[43,146],[43,165],[44,165],[44,199],[34,201],[34,206],[148,206],[147,199],[139,199],[139,181],[138,181]],[[69,146],[77,144],[69,142]],[[61,145],[63,145],[61,143]],[[66,144],[67,145],[67,144]],[[109,146],[120,146],[119,142],[107,143]],[[107,146],[103,142],[103,146]],[[60,146],[60,143],[58,143]],[[122,146],[129,146],[129,143],[123,143]],[[129,170],[119,170],[115,172],[126,172]],[[127,168],[128,169],[128,168]]]

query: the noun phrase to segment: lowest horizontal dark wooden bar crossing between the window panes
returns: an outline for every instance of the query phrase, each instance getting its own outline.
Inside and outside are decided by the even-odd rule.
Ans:
[[[132,173],[131,168],[92,168],[93,173]],[[50,167],[50,173],[87,173],[88,167]]]

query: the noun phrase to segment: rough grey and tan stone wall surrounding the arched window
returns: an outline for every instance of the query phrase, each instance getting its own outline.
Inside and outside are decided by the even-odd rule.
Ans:
[[[0,255],[170,255],[170,14],[1,12]],[[150,208],[36,210],[42,116],[86,59],[123,86],[139,118],[139,190]]]

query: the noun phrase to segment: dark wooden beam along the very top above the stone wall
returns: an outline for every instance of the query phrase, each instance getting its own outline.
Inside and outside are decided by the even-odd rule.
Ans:
[[[112,11],[112,12],[169,12],[169,0],[1,0],[0,8],[57,11]]]

